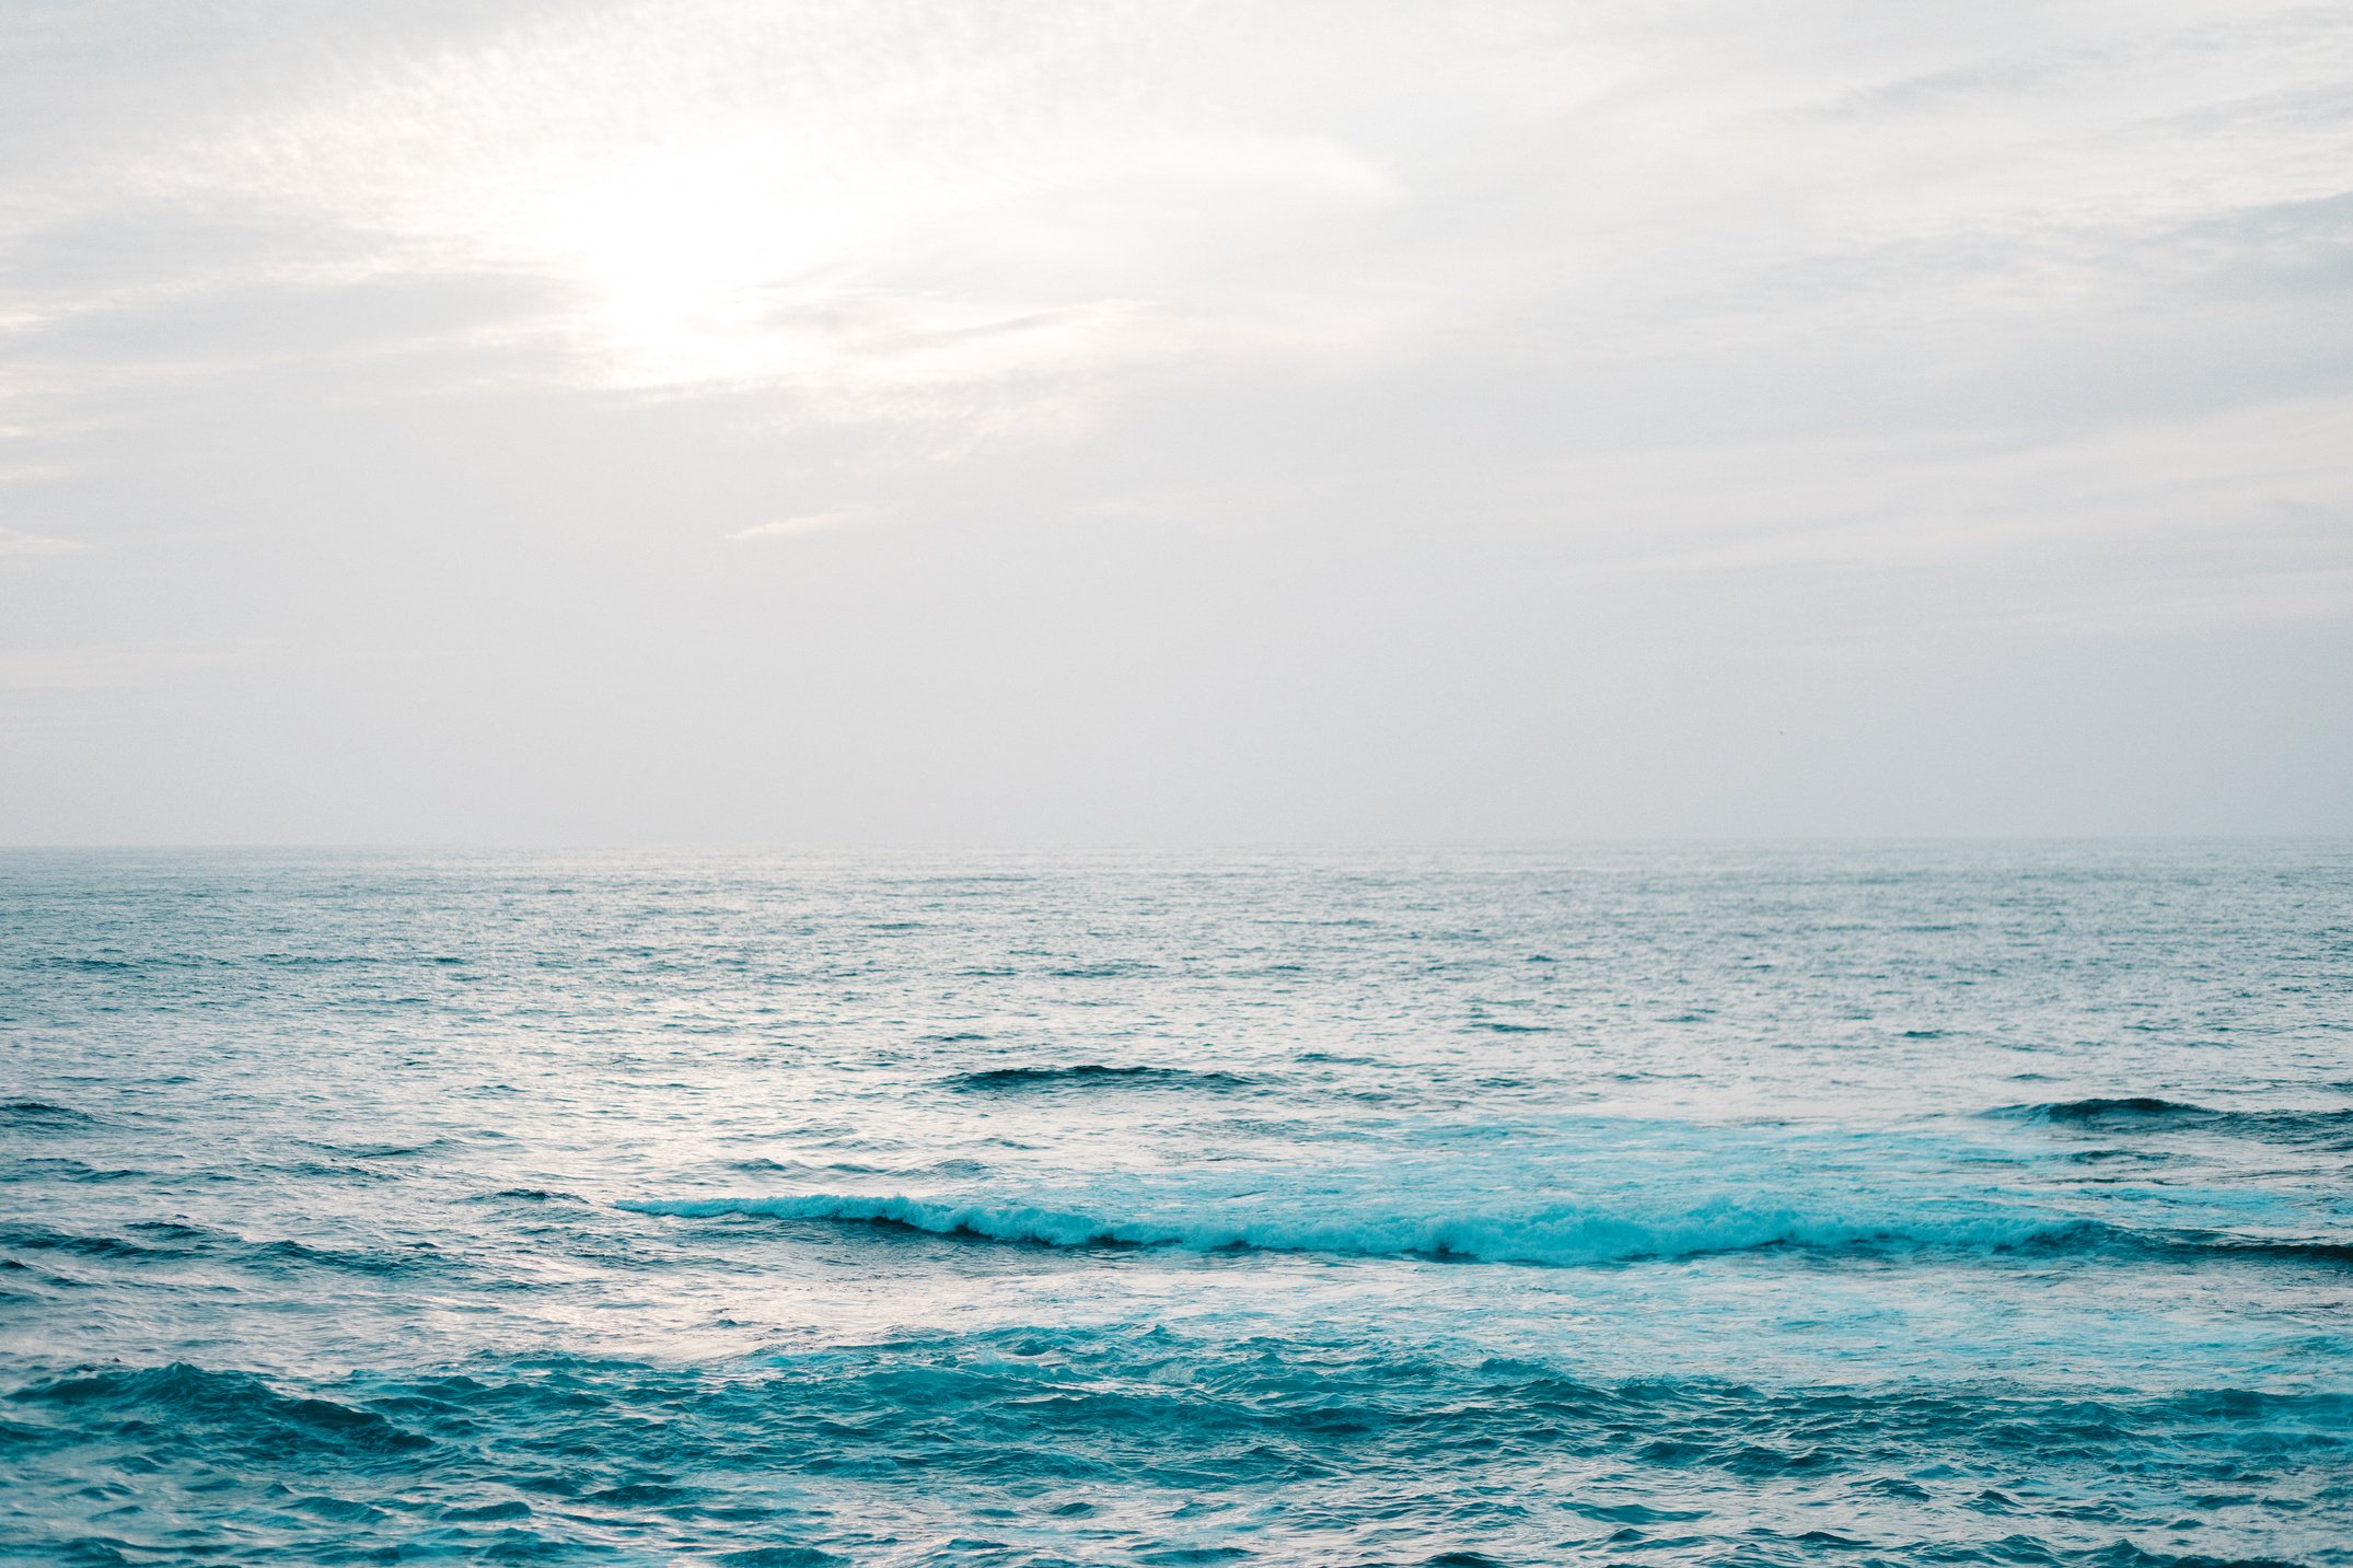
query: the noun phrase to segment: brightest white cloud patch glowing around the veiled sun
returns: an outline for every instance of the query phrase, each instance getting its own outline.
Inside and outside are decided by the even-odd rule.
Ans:
[[[315,223],[280,277],[536,280],[529,324],[586,386],[772,388],[816,423],[993,404],[1066,428],[1106,371],[1417,324],[1329,266],[1332,223],[1400,188],[1217,82],[1233,16],[1188,40],[1122,9],[1111,49],[1106,21],[586,7],[346,73],[113,183]],[[1268,275],[1271,244],[1299,261]],[[1238,247],[1247,287],[1214,282]]]

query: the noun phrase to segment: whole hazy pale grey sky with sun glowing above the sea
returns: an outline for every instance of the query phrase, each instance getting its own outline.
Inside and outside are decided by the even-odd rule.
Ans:
[[[0,842],[2353,832],[2353,7],[0,0]]]

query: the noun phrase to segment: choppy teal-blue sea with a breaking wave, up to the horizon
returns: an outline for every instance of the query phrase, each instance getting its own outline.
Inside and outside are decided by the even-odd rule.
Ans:
[[[2353,851],[0,858],[0,1556],[2353,1563]]]

